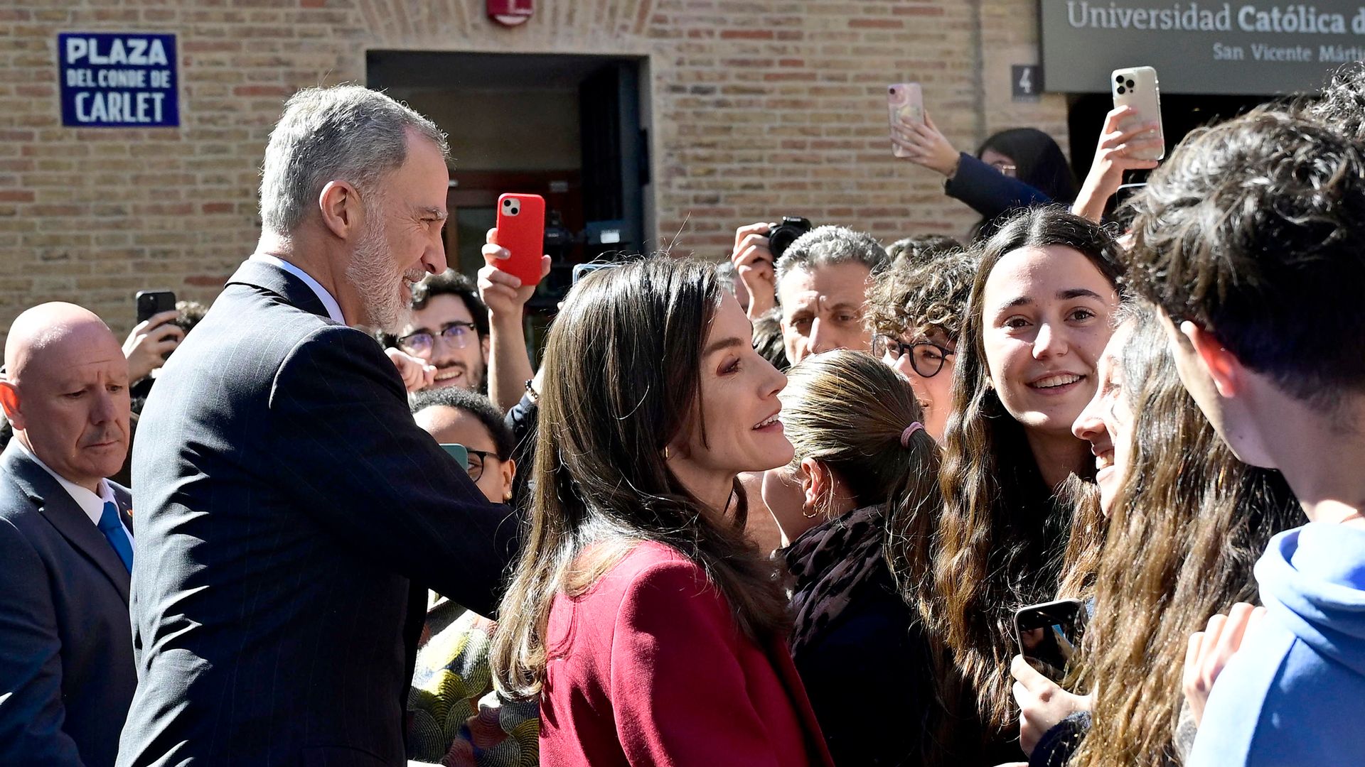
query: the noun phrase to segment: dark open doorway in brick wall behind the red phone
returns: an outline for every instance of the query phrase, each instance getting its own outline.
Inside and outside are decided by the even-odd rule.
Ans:
[[[550,277],[527,303],[531,348],[576,263],[640,252],[651,231],[647,61],[595,55],[370,50],[366,85],[430,117],[450,142],[453,269],[474,276],[498,195],[546,201]]]

